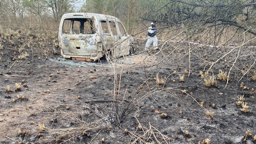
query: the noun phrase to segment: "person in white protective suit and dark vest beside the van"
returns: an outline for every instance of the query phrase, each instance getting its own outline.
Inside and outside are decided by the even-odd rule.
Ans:
[[[157,21],[153,20],[153,22],[151,23],[151,25],[148,27],[148,40],[146,43],[146,46],[144,48],[144,50],[148,50],[148,48],[150,47],[150,44],[153,42],[153,50],[158,50],[158,39],[156,37],[156,24]]]

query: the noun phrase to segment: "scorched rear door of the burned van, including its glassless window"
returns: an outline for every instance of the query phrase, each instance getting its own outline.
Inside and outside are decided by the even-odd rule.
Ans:
[[[97,35],[93,18],[68,18],[61,33],[62,53],[70,57],[97,56]]]

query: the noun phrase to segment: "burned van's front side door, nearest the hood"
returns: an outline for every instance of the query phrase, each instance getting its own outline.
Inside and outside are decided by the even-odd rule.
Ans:
[[[130,52],[130,41],[127,32],[121,22],[117,22],[120,37],[120,55],[128,55]]]

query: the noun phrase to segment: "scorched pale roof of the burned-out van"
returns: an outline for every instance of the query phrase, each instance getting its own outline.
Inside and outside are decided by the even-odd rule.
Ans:
[[[110,15],[104,15],[104,14],[99,14],[99,13],[89,13],[89,12],[72,12],[72,13],[65,13],[62,16],[63,18],[74,18],[74,17],[81,17],[81,16],[86,16],[86,17],[92,17],[92,16],[98,16],[101,19],[116,19],[119,20],[118,18],[114,17],[114,16],[110,16]],[[120,20],[119,20],[120,21]]]

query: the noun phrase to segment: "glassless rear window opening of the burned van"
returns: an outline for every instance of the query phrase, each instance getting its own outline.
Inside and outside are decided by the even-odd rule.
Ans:
[[[64,19],[62,25],[64,34],[95,34],[94,20],[91,18]]]

